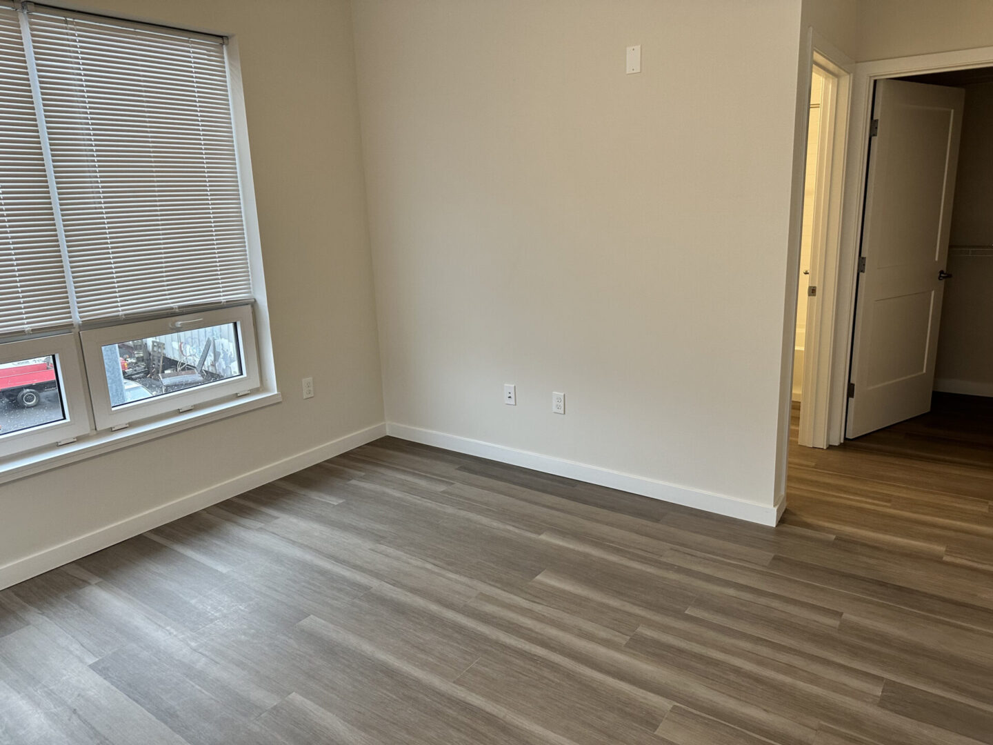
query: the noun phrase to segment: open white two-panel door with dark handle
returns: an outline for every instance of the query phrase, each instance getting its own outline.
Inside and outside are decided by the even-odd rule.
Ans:
[[[964,96],[876,83],[848,437],[930,409]]]

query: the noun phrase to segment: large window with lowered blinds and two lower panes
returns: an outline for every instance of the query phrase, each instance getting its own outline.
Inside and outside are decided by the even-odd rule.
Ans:
[[[259,387],[231,94],[220,37],[0,0],[0,458]]]

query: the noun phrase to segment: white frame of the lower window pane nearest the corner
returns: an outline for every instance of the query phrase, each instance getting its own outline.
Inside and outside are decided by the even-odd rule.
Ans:
[[[135,339],[167,336],[178,331],[196,331],[213,326],[234,324],[241,356],[241,374],[222,380],[174,390],[151,398],[110,405],[110,388],[103,369],[103,347]],[[163,414],[183,413],[198,405],[236,397],[259,387],[258,352],[255,344],[255,324],[252,305],[237,305],[184,315],[167,316],[148,321],[103,326],[79,332],[82,358],[89,373],[89,397],[96,430],[128,426],[141,419]]]

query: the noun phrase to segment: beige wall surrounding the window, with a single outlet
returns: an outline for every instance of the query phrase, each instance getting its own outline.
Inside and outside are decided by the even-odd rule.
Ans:
[[[268,0],[84,4],[236,35],[285,400],[0,486],[0,567],[382,421],[350,6],[292,5],[289,13]],[[304,375],[317,392],[308,401]]]

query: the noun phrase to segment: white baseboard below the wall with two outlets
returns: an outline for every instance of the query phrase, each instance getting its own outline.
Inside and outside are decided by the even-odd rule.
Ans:
[[[407,424],[386,423],[387,434],[399,437],[401,440],[419,442],[422,445],[434,445],[457,453],[476,455],[512,466],[529,468],[546,474],[564,476],[576,481],[585,481],[602,487],[618,489],[623,492],[639,494],[662,502],[672,502],[676,505],[705,510],[729,518],[737,518],[748,522],[759,522],[763,525],[775,525],[780,520],[785,500],[780,496],[775,505],[761,505],[736,497],[728,497],[711,492],[701,492],[696,489],[667,484],[663,481],[648,479],[643,476],[632,476],[618,471],[611,471],[599,466],[589,466],[585,463],[552,458],[547,455],[531,453],[525,450],[495,445],[468,437],[458,437],[430,429],[411,427]]]

